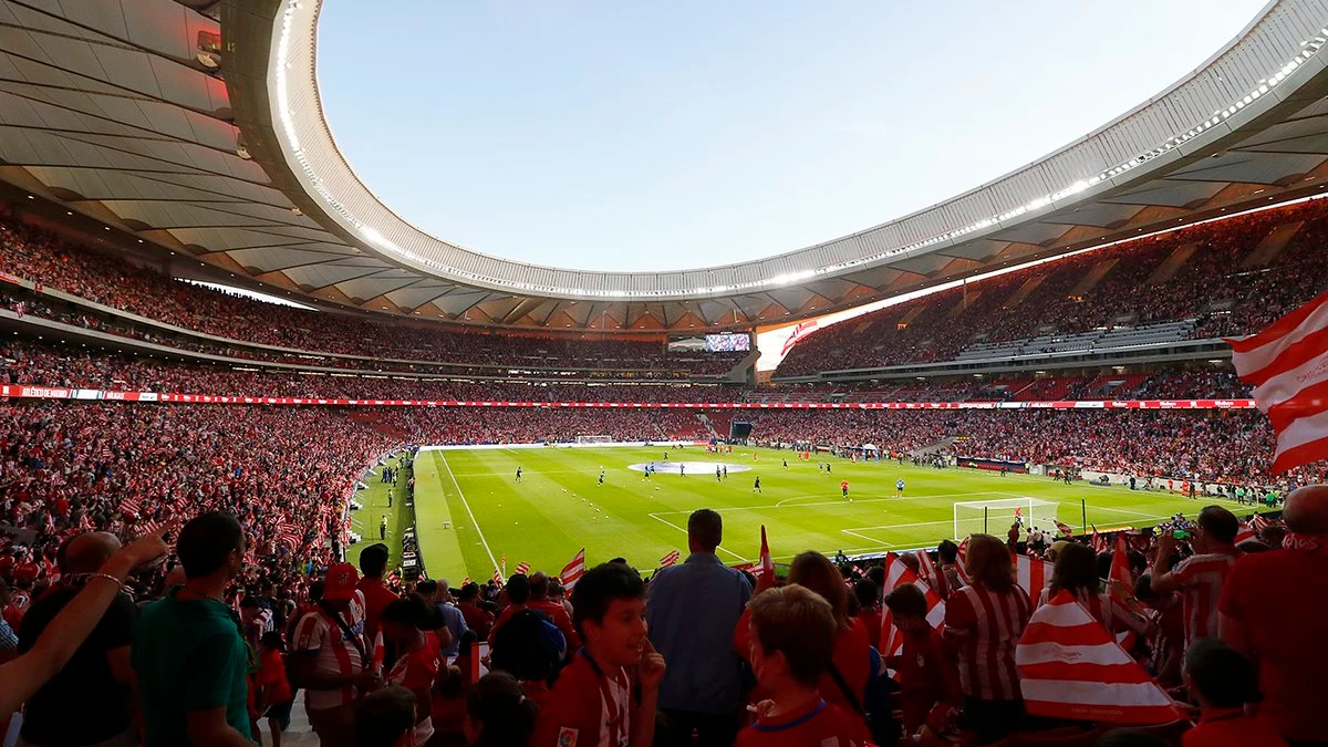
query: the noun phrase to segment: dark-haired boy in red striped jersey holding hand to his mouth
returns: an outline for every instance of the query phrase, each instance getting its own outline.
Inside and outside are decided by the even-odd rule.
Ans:
[[[651,747],[664,657],[645,637],[641,577],[614,562],[586,572],[572,591],[572,625],[586,645],[548,694],[530,746]]]

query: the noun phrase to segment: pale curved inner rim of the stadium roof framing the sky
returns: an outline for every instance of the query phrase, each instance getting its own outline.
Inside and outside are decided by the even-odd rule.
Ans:
[[[272,126],[287,166],[323,213],[365,250],[421,272],[544,298],[722,298],[890,265],[1007,229],[1134,181],[1234,132],[1297,82],[1328,32],[1328,0],[1267,5],[1243,33],[1159,96],[987,185],[911,215],[765,259],[695,270],[594,272],[489,257],[434,238],[378,201],[337,150],[316,81],[321,0],[282,0],[268,60]],[[1296,78],[1292,81],[1291,78]],[[1264,101],[1260,101],[1263,98]]]

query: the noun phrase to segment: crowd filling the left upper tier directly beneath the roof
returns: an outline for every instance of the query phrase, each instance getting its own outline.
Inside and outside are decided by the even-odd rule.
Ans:
[[[584,339],[582,336],[490,335],[454,331],[424,322],[372,320],[347,314],[305,311],[183,283],[120,258],[68,246],[35,226],[0,221],[0,271],[41,283],[84,300],[118,308],[185,330],[232,340],[231,352],[247,358],[283,358],[243,343],[299,351],[489,366],[657,370],[717,375],[728,372],[742,352],[668,351],[664,342]],[[13,294],[20,292],[17,288]],[[84,327],[113,326],[92,310],[57,311],[49,303],[24,303],[24,312],[52,314]],[[165,331],[155,331],[157,335]],[[218,343],[202,343],[210,352]],[[361,363],[363,366],[363,363]]]

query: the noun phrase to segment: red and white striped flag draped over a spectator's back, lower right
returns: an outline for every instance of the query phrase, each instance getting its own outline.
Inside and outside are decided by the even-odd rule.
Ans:
[[[1109,723],[1167,723],[1182,712],[1069,591],[1033,613],[1015,649],[1029,714]]]

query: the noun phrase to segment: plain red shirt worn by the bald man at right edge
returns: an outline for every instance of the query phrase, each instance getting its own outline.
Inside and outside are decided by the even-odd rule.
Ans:
[[[1328,734],[1319,682],[1328,671],[1323,605],[1328,552],[1272,550],[1244,556],[1227,576],[1218,609],[1244,623],[1259,661],[1259,719],[1283,738],[1313,742]]]

